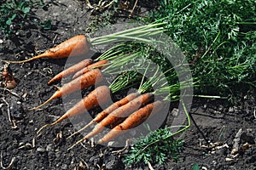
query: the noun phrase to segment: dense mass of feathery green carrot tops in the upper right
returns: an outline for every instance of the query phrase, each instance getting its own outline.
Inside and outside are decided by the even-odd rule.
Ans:
[[[149,19],[166,21],[201,93],[228,95],[236,94],[235,86],[255,87],[255,11],[253,0],[161,0]]]

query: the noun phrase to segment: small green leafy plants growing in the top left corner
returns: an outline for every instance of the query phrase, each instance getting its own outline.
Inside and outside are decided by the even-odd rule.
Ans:
[[[0,3],[0,29],[3,30],[7,37],[14,33],[15,30],[26,25],[37,24],[46,30],[50,29],[51,20],[41,23],[40,20],[38,21],[34,17],[32,9],[38,6],[45,7],[43,1],[9,0]]]

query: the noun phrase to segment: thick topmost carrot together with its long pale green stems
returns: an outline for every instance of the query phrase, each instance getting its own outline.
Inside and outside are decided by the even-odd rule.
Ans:
[[[113,34],[109,34],[102,37],[95,37],[91,39],[87,39],[84,35],[79,35],[76,37],[72,37],[65,42],[61,42],[61,44],[55,46],[54,48],[49,48],[48,50],[46,50],[44,54],[39,54],[38,56],[32,57],[31,59],[26,59],[22,61],[2,61],[9,63],[25,63],[33,59],[60,59],[71,56],[83,55],[89,52],[90,44],[92,46],[96,46],[102,44],[111,44],[114,42],[124,42],[125,40],[139,40],[143,42],[152,42],[152,40],[147,37],[162,33],[164,31],[164,28],[159,27],[162,25],[165,25],[165,23],[139,26],[137,28],[131,28],[125,31],[118,31]]]

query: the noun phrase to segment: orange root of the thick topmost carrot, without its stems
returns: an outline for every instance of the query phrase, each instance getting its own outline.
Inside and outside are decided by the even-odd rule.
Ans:
[[[26,59],[22,61],[9,61],[9,60],[2,60],[2,61],[8,62],[8,63],[25,63],[27,61],[31,61],[34,59],[42,59],[42,58],[61,59],[61,58],[78,56],[78,55],[84,55],[84,54],[87,54],[89,50],[90,50],[90,46],[87,42],[86,37],[84,35],[79,35],[79,36],[72,37],[65,42],[61,42],[59,45],[55,46],[54,48],[49,48],[44,52],[44,54],[39,54],[30,59]]]

